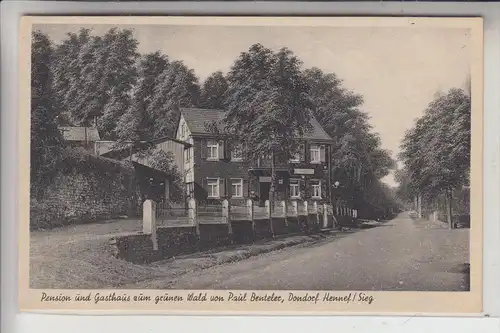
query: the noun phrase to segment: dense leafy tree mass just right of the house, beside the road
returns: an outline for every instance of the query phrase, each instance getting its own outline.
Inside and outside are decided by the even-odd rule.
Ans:
[[[313,112],[334,139],[331,154],[331,176],[342,183],[342,194],[362,206],[370,187],[394,168],[391,153],[381,148],[381,141],[372,133],[368,115],[360,108],[363,96],[342,85],[333,73],[319,68],[304,71]]]

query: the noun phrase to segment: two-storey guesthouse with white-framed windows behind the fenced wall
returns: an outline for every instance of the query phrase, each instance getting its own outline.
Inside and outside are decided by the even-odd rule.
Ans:
[[[207,124],[219,121],[224,111],[182,108],[176,139],[190,144],[184,153],[187,195],[201,201],[230,198],[269,199],[271,159],[248,161],[244,149],[219,140]],[[329,154],[332,138],[312,117],[312,131],[300,141],[300,153],[275,157],[276,196],[283,199],[327,201],[331,179]]]

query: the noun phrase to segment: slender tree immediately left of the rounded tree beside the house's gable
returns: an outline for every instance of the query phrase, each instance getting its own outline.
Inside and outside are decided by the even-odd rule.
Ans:
[[[159,53],[149,53],[141,57],[138,64],[137,84],[132,92],[132,101],[117,124],[119,141],[151,140],[155,118],[148,111],[159,81],[159,73],[169,65],[168,57]]]

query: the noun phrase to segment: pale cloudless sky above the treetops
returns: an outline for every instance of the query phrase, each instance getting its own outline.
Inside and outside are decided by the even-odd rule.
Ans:
[[[104,34],[110,25],[34,26],[58,43],[66,33],[91,28]],[[470,73],[469,33],[462,28],[430,27],[256,27],[120,25],[133,29],[139,52],[161,51],[182,60],[200,81],[227,72],[241,52],[261,43],[287,47],[304,68],[335,73],[344,87],[363,95],[382,147],[396,158],[399,143],[436,92],[461,88]],[[392,174],[384,182],[396,185]]]

